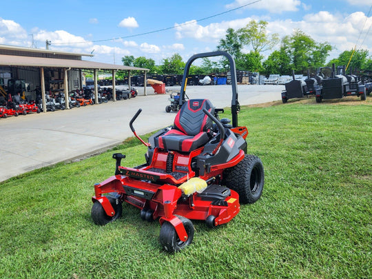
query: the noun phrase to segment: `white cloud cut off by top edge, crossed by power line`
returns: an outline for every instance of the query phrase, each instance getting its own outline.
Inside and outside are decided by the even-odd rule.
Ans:
[[[363,1],[363,0],[362,0]],[[251,0],[235,0],[233,3],[226,5],[228,9],[238,8],[252,2]],[[300,0],[265,0],[253,3],[252,5],[246,6],[247,9],[261,9],[268,10],[273,14],[280,14],[282,12],[296,12],[298,6],[301,5]]]

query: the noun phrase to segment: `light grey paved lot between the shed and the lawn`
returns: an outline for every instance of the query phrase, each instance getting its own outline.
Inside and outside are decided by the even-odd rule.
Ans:
[[[165,112],[169,92],[154,94],[147,87],[136,87],[136,98],[109,101],[100,105],[58,110],[0,119],[0,182],[33,169],[74,161],[103,152],[133,136],[130,119],[139,108],[143,111],[134,123],[137,134],[146,134],[172,125],[174,112]],[[284,85],[238,85],[240,105],[280,100]],[[190,99],[209,99],[215,107],[231,106],[230,85],[188,86]]]

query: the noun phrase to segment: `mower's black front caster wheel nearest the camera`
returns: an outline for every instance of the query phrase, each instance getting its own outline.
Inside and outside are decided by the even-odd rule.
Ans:
[[[173,225],[169,222],[164,222],[161,226],[159,241],[161,242],[161,246],[169,253],[178,252],[184,249],[191,244],[192,239],[194,238],[194,226],[192,225],[192,222],[183,216],[177,217],[183,223],[188,238],[186,241],[180,240]]]

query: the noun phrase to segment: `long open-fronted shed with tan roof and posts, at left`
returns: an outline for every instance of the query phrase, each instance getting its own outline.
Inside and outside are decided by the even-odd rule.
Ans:
[[[8,79],[24,80],[28,85],[26,94],[32,97],[35,97],[34,94],[40,89],[43,110],[45,111],[45,92],[63,90],[65,99],[68,99],[69,92],[83,87],[83,71],[94,73],[95,100],[98,100],[97,72],[110,72],[115,101],[115,74],[117,71],[128,71],[130,77],[130,71],[132,70],[141,70],[145,73],[145,76],[149,70],[87,61],[82,59],[83,56],[92,57],[94,55],[0,45],[0,80],[3,85],[7,85]],[[129,86],[131,86],[130,78]],[[68,90],[65,90],[65,88],[68,88]],[[146,87],[144,90],[146,94]],[[68,102],[66,105],[69,108]]]

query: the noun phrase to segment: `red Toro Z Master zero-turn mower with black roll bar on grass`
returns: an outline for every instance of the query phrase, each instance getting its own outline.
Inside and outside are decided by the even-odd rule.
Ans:
[[[195,59],[226,56],[231,68],[232,125],[219,120],[207,99],[185,101],[185,85]],[[246,127],[238,126],[238,94],[234,59],[227,52],[196,54],[187,61],[180,92],[181,108],[174,125],[149,138],[144,145],[146,163],[122,167],[123,154],[114,154],[115,175],[94,185],[92,219],[105,225],[119,218],[122,203],[141,209],[141,218],[159,218],[160,242],[168,252],[179,251],[192,242],[192,220],[205,220],[211,228],[228,223],[240,210],[240,203],[254,203],[262,194],[264,169],[260,158],[246,155]]]

